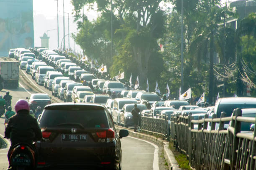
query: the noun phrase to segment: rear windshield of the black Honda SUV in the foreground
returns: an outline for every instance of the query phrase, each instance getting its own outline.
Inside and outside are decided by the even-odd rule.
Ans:
[[[99,107],[58,106],[54,110],[46,109],[39,126],[44,128],[108,128],[108,120],[104,109]]]

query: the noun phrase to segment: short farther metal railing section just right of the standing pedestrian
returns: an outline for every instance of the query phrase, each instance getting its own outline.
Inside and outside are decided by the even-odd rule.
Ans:
[[[141,116],[142,131],[154,133],[165,138],[169,133],[168,129],[169,128],[166,115],[157,115],[156,118],[149,114],[144,114],[144,116]]]

